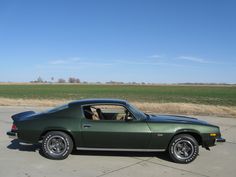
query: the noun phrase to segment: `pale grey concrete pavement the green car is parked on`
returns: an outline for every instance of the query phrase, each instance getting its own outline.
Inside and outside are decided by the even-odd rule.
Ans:
[[[6,136],[14,113],[43,108],[0,107],[1,177],[138,177],[138,176],[236,176],[236,118],[201,117],[219,125],[227,142],[207,151],[187,165],[175,164],[163,153],[81,151],[66,160],[44,158],[37,145],[21,145]]]

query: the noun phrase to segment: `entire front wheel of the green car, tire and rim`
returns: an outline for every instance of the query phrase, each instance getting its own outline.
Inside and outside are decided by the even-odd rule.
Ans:
[[[199,145],[189,134],[176,135],[169,144],[170,158],[176,163],[190,163],[196,159]]]

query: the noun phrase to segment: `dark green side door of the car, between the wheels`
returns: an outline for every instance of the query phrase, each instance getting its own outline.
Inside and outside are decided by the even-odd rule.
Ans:
[[[123,107],[123,106],[122,106]],[[88,119],[83,116],[81,130],[83,147],[87,148],[108,148],[108,149],[147,149],[151,131],[145,121],[137,120],[131,112],[123,107],[126,117],[119,117],[117,110],[109,112],[102,110],[104,119]],[[127,117],[127,114],[130,117]],[[109,117],[109,115],[112,115]],[[112,118],[113,117],[113,118]],[[126,120],[125,120],[126,119]]]

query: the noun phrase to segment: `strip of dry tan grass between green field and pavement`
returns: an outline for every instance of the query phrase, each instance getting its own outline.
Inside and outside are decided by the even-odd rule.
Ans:
[[[34,100],[0,98],[0,106],[43,106],[53,107],[72,100]],[[141,103],[133,102],[135,106],[145,112],[160,114],[183,115],[214,115],[223,117],[236,117],[235,106],[214,106],[191,103]]]

